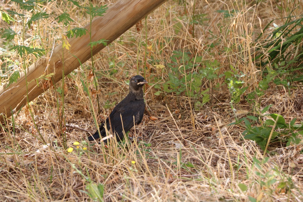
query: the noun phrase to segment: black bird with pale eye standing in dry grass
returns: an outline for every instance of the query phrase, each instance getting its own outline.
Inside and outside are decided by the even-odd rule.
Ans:
[[[125,133],[129,131],[135,124],[140,124],[143,118],[145,103],[143,98],[142,87],[147,84],[147,81],[140,75],[134,76],[129,81],[128,95],[113,109],[112,113],[106,119],[106,127],[108,131],[115,133],[117,141],[123,139],[123,129]],[[121,114],[121,116],[120,116]],[[122,122],[121,122],[122,117]],[[123,125],[122,125],[123,124]],[[105,123],[99,127],[102,137],[106,136]],[[92,136],[88,137],[89,141],[99,138],[98,130]],[[107,139],[108,140],[108,139]],[[107,140],[104,143],[107,143]]]

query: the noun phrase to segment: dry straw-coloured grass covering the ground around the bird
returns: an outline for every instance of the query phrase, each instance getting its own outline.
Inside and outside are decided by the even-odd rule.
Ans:
[[[255,3],[168,1],[151,12],[146,22],[142,19],[94,56],[97,89],[92,79],[92,62],[88,61],[66,77],[63,85],[60,81],[22,108],[17,116],[6,119],[0,128],[1,201],[90,201],[97,195],[101,196],[100,201],[302,201],[301,144],[276,144],[264,153],[254,141],[243,139],[244,128],[228,124],[253,109],[241,97],[233,113],[224,77],[202,80],[202,90],[211,88],[211,99],[196,110],[192,98],[185,93],[168,93],[162,87],[171,73],[167,64],[171,63],[172,52],[178,50],[193,58],[202,56],[202,63],[217,60],[218,75],[235,68],[246,75],[242,81],[249,87],[247,91],[254,91],[262,75],[252,57],[264,41],[252,42],[271,20],[277,19],[275,24],[281,25],[291,10],[293,16],[300,16],[303,11],[303,6],[294,8],[292,1]],[[14,2],[1,4],[21,12]],[[85,0],[80,2],[87,4]],[[35,23],[24,38],[19,33],[10,42],[0,39],[0,54],[13,61],[15,70],[27,67],[37,58],[32,54],[21,58],[16,52],[4,52],[12,43],[24,42],[45,48],[48,53],[69,28],[54,20],[57,15],[69,13],[75,20],[71,28],[89,23],[89,16],[70,2],[44,2],[38,7],[52,14],[50,18]],[[232,9],[240,13],[224,18],[216,12]],[[25,14],[26,18],[32,15]],[[200,22],[190,23],[192,16],[199,14],[204,14]],[[1,21],[1,28],[8,26]],[[18,26],[23,25],[15,23],[12,28],[22,30]],[[41,40],[33,39],[38,35]],[[11,74],[12,67],[2,65],[2,76]],[[125,146],[115,143],[104,149],[102,144],[88,145],[87,132],[64,127],[66,123],[95,131],[92,108],[98,122],[102,122],[126,96],[125,81],[136,74],[145,75],[149,81],[145,89],[147,108],[142,124],[129,135],[145,144],[126,141]],[[88,83],[89,94],[83,81]],[[6,81],[2,78],[1,82]],[[160,89],[155,89],[154,84]],[[287,89],[271,83],[265,95],[258,98],[261,108],[273,104],[270,113],[281,114],[286,121],[297,118],[300,123],[302,86],[294,85],[296,88]],[[64,99],[58,92],[60,88]],[[161,93],[155,95],[159,90]],[[80,142],[78,149],[73,145],[75,141]],[[74,151],[68,153],[68,147]],[[265,157],[269,157],[268,161],[261,162]],[[97,185],[102,189],[102,184],[103,197],[96,190]]]

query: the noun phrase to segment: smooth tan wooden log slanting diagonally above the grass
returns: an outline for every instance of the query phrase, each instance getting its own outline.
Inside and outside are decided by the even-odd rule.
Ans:
[[[120,0],[116,2],[108,8],[104,16],[96,17],[92,21],[92,41],[105,39],[108,40],[107,44],[111,43],[165,1]],[[89,31],[89,27],[88,24],[84,28]],[[41,58],[26,69],[26,76],[22,72],[20,79],[11,84],[8,89],[6,85],[0,87],[0,122],[4,120],[3,115],[10,117],[12,111],[18,111],[27,101],[32,101],[49,88],[43,79],[39,79],[39,85],[37,85],[38,78],[54,73],[53,79],[58,82],[62,79],[62,72],[68,75],[80,66],[79,61],[82,64],[91,58],[88,33],[82,37],[70,38],[68,42],[71,45],[69,50],[62,48],[62,44],[58,45],[52,51],[49,62],[46,58]],[[93,55],[104,47],[102,44],[93,47]]]

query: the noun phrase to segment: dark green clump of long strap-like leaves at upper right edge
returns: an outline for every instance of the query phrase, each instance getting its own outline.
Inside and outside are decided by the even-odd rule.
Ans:
[[[303,39],[303,18],[292,21],[291,18],[291,16],[288,16],[284,25],[281,26],[273,23],[274,20],[265,26],[256,41],[265,37],[264,33],[272,23],[274,24],[273,31],[267,35],[265,43],[256,48],[256,52],[259,53],[253,58],[261,68],[262,74],[274,73],[274,83],[282,84],[288,88],[291,87],[293,81],[301,82],[303,80],[301,74],[303,69],[303,45],[301,43]]]

